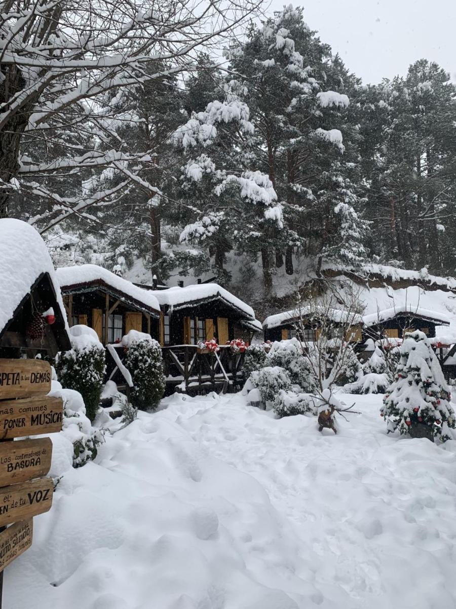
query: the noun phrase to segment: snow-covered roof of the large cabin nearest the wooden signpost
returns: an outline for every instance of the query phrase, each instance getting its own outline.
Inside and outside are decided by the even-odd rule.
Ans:
[[[57,278],[64,292],[77,292],[78,287],[82,288],[88,284],[94,286],[101,284],[111,288],[116,295],[122,297],[122,300],[130,301],[138,308],[145,308],[147,311],[153,312],[160,311],[159,301],[154,296],[154,292],[135,286],[131,281],[127,281],[96,264],[61,267],[57,269]]]

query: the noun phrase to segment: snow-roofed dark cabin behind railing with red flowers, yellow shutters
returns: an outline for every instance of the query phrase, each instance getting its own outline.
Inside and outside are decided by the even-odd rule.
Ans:
[[[254,310],[216,283],[153,290],[162,311],[160,342],[195,345],[216,338],[219,345],[232,339],[249,341],[261,332]]]

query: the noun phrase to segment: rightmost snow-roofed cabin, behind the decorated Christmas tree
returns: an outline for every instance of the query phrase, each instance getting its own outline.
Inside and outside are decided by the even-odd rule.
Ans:
[[[436,326],[450,325],[446,315],[412,305],[396,306],[364,315],[362,322],[363,336],[373,340],[402,339],[404,334],[414,330],[420,330],[427,337],[433,338]]]

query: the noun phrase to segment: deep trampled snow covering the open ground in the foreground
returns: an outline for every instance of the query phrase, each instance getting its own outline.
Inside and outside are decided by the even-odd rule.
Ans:
[[[340,434],[244,398],[165,400],[69,470],[4,609],[456,606],[456,442]],[[451,446],[450,446],[451,444]]]

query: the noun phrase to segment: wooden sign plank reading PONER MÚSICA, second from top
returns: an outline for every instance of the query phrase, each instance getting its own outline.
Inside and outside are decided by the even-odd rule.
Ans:
[[[1,390],[1,388],[0,388]],[[61,431],[63,400],[49,396],[0,401],[0,440]]]

